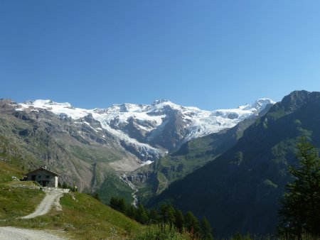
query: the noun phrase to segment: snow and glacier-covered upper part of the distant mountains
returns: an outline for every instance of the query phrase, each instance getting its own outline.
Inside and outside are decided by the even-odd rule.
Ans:
[[[61,118],[70,117],[87,124],[97,133],[108,131],[124,148],[147,161],[176,150],[185,141],[231,128],[244,119],[257,116],[267,104],[274,102],[258,99],[237,109],[215,111],[182,107],[168,100],[157,100],[152,104],[114,104],[107,109],[80,109],[69,103],[36,100],[18,104],[16,110],[46,109]],[[100,124],[92,124],[96,121]]]

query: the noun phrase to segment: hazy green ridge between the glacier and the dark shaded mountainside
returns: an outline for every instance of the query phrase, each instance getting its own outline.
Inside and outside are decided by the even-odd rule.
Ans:
[[[220,156],[237,143],[243,131],[254,121],[246,119],[232,129],[188,141],[175,153],[139,168],[130,179],[139,186],[139,201],[146,202],[150,197],[159,195],[171,182]]]

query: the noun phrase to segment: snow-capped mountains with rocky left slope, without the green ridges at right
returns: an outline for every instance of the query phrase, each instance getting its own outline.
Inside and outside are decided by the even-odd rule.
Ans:
[[[26,170],[48,165],[80,190],[132,200],[125,173],[176,151],[188,140],[252,119],[270,99],[238,109],[203,111],[166,100],[80,109],[52,100],[0,100],[0,150]],[[13,150],[14,149],[14,150]],[[19,156],[19,159],[16,159]]]

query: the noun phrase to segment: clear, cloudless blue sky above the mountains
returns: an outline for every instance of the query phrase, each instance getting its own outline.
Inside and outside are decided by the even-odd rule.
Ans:
[[[320,1],[1,0],[0,83],[83,108],[320,91]]]

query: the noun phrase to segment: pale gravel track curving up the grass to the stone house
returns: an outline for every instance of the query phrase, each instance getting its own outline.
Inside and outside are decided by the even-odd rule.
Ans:
[[[60,206],[60,202],[59,202],[60,197],[62,197],[62,196],[63,196],[62,193],[46,192],[46,197],[43,198],[41,204],[39,204],[36,211],[31,214],[28,214],[25,217],[21,217],[21,219],[29,219],[29,218],[44,215],[50,211],[50,209],[51,209],[51,207],[53,207],[53,205],[55,205],[56,207],[59,207]]]

